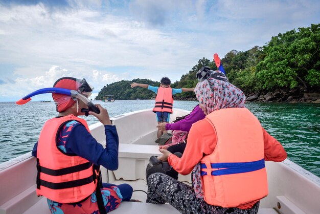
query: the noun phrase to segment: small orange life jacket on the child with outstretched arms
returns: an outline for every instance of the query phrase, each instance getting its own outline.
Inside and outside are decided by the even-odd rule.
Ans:
[[[155,105],[152,111],[172,113],[172,106],[172,88],[159,87],[155,97]]]

